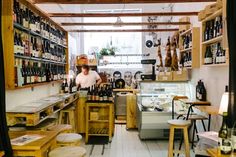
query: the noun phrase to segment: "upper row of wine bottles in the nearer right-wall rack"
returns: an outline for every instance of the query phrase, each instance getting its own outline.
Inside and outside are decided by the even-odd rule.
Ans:
[[[215,19],[207,21],[204,31],[204,41],[221,36],[223,33],[222,16],[217,16]]]

